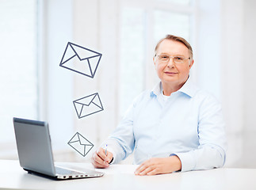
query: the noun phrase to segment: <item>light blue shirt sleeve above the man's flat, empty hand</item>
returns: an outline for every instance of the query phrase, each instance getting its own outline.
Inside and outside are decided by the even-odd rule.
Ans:
[[[197,150],[170,154],[181,160],[181,172],[222,167],[225,163],[227,139],[221,105],[214,97],[201,103],[198,116]]]

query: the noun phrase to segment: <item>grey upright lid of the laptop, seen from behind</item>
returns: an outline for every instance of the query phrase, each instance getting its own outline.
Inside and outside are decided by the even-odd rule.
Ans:
[[[48,123],[13,118],[21,167],[55,176]]]

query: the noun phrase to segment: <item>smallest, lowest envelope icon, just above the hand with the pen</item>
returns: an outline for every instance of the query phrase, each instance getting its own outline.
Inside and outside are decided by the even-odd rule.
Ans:
[[[74,148],[76,151],[78,151],[78,153],[81,154],[83,157],[85,157],[86,154],[88,154],[89,151],[94,147],[94,145],[89,140],[84,138],[78,132],[72,137],[69,142],[67,142],[67,144]]]

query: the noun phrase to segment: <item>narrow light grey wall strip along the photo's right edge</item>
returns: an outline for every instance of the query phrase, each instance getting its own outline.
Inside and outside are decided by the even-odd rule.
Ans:
[[[243,165],[256,167],[256,2],[246,0],[244,2],[244,41],[243,41]]]

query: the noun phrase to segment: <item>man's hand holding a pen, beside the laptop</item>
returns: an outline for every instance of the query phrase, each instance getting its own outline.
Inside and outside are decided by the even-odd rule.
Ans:
[[[95,168],[107,168],[109,167],[109,162],[112,160],[113,154],[107,151],[105,155],[105,150],[103,148],[99,148],[94,152],[92,157],[92,164]]]

